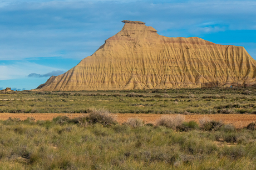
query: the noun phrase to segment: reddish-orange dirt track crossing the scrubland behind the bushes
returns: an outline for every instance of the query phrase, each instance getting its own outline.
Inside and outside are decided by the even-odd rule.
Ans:
[[[68,116],[68,117],[78,117],[78,116],[86,116],[87,114],[8,114],[8,113],[0,113],[0,120],[7,120],[9,117],[17,117],[21,120],[27,119],[27,117],[34,117],[36,120],[52,120],[53,117],[57,116]],[[157,114],[115,114],[117,115],[117,121],[122,123],[125,122],[130,117],[137,117],[142,119],[145,123],[154,123],[155,120],[159,119],[162,115]],[[250,122],[256,121],[256,115],[184,115],[186,121],[194,120],[199,122],[200,119],[204,117],[209,117],[211,120],[222,120],[224,123],[231,123],[235,127],[240,128],[247,126]]]

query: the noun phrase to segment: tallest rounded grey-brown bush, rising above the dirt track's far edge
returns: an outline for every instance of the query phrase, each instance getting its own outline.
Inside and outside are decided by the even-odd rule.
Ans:
[[[116,124],[116,116],[106,109],[92,109],[87,120],[91,124],[100,123],[104,126]]]

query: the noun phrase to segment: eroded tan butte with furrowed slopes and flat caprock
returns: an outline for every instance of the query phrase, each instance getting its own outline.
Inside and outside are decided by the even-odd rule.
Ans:
[[[124,28],[40,91],[164,89],[253,85],[256,61],[243,47],[200,39],[169,38],[139,21]]]

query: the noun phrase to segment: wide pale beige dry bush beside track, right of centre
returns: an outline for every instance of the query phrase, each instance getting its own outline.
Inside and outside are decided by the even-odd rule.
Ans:
[[[184,115],[177,116],[161,116],[159,120],[156,120],[157,126],[165,126],[167,128],[173,128],[180,126],[185,120]]]

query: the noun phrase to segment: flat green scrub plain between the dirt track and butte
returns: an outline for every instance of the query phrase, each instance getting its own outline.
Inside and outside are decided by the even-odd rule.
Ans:
[[[200,88],[121,91],[13,91],[0,94],[0,112],[255,114],[256,88]]]

